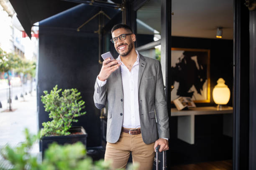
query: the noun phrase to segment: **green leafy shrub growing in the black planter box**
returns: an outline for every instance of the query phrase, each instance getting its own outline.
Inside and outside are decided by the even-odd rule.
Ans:
[[[77,122],[75,117],[84,115],[84,101],[80,100],[80,92],[77,89],[58,90],[56,85],[50,93],[44,91],[41,101],[44,103],[45,111],[50,112],[49,117],[53,120],[43,122],[42,136],[69,135],[68,130],[72,122]],[[61,96],[59,93],[61,92]]]

